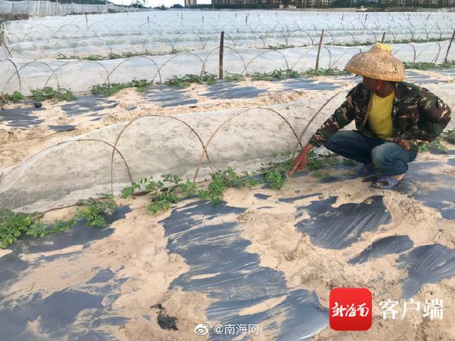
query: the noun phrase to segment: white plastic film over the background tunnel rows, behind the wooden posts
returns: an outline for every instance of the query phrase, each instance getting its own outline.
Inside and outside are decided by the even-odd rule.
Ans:
[[[454,13],[439,12],[290,11],[149,11],[31,18],[4,23],[0,91],[29,94],[51,86],[85,92],[100,83],[164,82],[187,73],[218,74],[221,31],[225,31],[224,71],[242,75],[314,67],[322,29],[319,67],[342,69],[352,55],[370,48],[384,32],[385,40],[400,42],[392,44],[397,58],[441,63],[454,18]],[[454,49],[448,58],[455,59]]]

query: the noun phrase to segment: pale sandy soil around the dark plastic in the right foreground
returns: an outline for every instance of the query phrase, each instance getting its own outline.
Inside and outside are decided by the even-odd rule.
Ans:
[[[286,185],[285,192],[299,188],[302,193],[331,193],[339,195],[335,205],[345,202],[362,202],[365,198],[378,194],[367,183],[358,180],[343,183],[343,188],[333,185],[314,185],[292,180]],[[230,205],[245,202],[245,193],[235,191],[228,196]],[[311,244],[307,234],[296,232],[294,212],[296,205],[307,205],[314,197],[299,200],[293,204],[280,203],[274,210],[257,210],[255,205],[248,205],[248,212],[240,217],[243,236],[251,240],[249,251],[261,255],[261,264],[283,271],[288,286],[316,291],[321,304],[328,308],[328,296],[334,287],[369,288],[373,293],[386,292],[386,296],[373,298],[373,327],[368,332],[336,332],[326,328],[313,340],[453,340],[455,329],[449,319],[424,320],[421,315],[407,315],[405,320],[382,320],[380,301],[400,297],[402,288],[400,279],[405,274],[394,266],[397,255],[383,256],[361,266],[350,266],[348,259],[368,247],[375,239],[392,234],[407,234],[419,244],[441,243],[454,248],[454,222],[441,220],[439,212],[422,206],[421,202],[407,195],[384,192],[387,209],[392,215],[392,223],[385,226],[382,233],[365,233],[362,242],[343,250],[331,250]],[[326,195],[319,197],[326,198]],[[272,205],[276,200],[270,197],[260,205]],[[436,224],[436,222],[438,222]],[[271,228],[273,227],[273,228]],[[443,232],[441,232],[443,231]],[[441,234],[444,237],[441,237]],[[452,305],[455,299],[455,278],[438,284],[427,284],[414,296],[415,301],[424,302],[432,298],[444,298],[448,306],[444,314],[455,313]],[[449,316],[449,315],[447,315]],[[412,336],[410,336],[412,335]]]

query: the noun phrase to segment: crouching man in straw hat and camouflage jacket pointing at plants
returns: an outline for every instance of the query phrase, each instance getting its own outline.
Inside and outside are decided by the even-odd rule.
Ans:
[[[306,164],[314,146],[325,146],[363,163],[359,176],[382,175],[375,188],[392,189],[414,161],[420,144],[433,141],[450,121],[451,110],[427,89],[402,82],[403,63],[389,45],[376,43],[358,53],[346,70],[363,76],[346,102],[328,118],[294,160],[294,171]],[[338,131],[355,120],[355,131]]]

